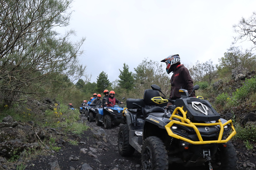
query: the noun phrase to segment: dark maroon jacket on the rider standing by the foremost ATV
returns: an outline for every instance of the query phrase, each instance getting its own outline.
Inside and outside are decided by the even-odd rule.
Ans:
[[[188,69],[183,65],[178,65],[171,78],[171,94],[170,99],[175,100],[180,98],[179,89],[188,90],[188,94],[193,91],[193,80],[190,77]],[[190,97],[195,97],[195,92]]]

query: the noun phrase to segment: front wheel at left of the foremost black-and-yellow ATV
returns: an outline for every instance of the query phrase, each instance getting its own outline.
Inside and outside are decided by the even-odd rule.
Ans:
[[[168,169],[168,155],[161,139],[158,137],[145,139],[141,150],[141,165],[143,170]]]

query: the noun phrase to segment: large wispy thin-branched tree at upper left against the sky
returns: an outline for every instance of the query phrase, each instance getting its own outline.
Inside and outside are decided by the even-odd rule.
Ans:
[[[0,2],[0,99],[4,105],[57,95],[78,79],[85,67],[77,56],[84,38],[71,43],[70,1],[20,0]]]

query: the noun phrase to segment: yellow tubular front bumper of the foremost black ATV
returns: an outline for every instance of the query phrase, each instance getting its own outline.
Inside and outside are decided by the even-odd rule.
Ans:
[[[182,113],[182,116],[178,115],[178,111],[180,111]],[[226,123],[223,123],[223,124],[222,124],[221,120],[218,120],[218,122],[216,121],[216,123],[193,123],[187,118],[186,113],[187,112],[184,112],[181,107],[177,107],[177,108],[174,109],[174,111],[173,111],[173,113],[170,117],[171,122],[169,122],[167,125],[165,125],[165,129],[171,137],[186,141],[186,142],[191,143],[193,145],[204,145],[204,144],[211,144],[211,143],[226,143],[232,137],[234,137],[234,135],[236,134],[236,130],[235,130],[231,120],[229,120],[229,121],[227,121]],[[178,118],[180,121],[173,120],[173,118]],[[183,125],[183,126],[193,128],[194,131],[197,134],[197,137],[198,137],[199,141],[189,140],[187,138],[181,137],[178,134],[173,133],[172,130],[171,130],[171,126],[173,124],[179,124],[179,125]],[[230,133],[229,136],[226,139],[222,139],[224,127],[228,124],[230,124],[230,127],[231,127],[233,132]],[[220,133],[219,133],[218,140],[204,141],[200,132],[199,132],[199,130],[197,129],[197,126],[217,126],[217,125],[220,126]]]

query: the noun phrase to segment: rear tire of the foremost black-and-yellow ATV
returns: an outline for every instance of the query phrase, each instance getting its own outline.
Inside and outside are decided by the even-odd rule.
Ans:
[[[135,149],[129,144],[129,127],[123,124],[118,132],[118,152],[122,156],[131,156]]]

